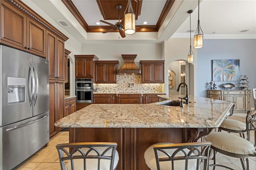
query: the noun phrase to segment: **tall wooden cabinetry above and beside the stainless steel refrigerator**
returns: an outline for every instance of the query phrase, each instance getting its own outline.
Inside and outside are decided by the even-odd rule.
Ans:
[[[64,117],[64,34],[22,1],[1,0],[1,44],[49,60],[50,137],[60,129],[54,123]],[[66,63],[65,63],[66,64]]]

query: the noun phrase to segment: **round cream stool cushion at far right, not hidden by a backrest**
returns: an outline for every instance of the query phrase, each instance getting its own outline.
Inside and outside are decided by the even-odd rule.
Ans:
[[[211,132],[205,140],[212,142],[212,146],[234,154],[253,154],[255,148],[248,140],[225,132]]]

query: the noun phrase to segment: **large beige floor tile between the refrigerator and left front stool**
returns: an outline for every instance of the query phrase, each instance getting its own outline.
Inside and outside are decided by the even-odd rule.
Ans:
[[[55,162],[59,158],[57,149],[45,149],[37,155],[31,162]]]

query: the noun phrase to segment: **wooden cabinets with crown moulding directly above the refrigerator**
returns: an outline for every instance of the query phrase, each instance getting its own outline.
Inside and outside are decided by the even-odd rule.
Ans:
[[[46,58],[50,45],[46,30],[62,39],[63,44],[68,40],[22,1],[1,1],[1,44]]]

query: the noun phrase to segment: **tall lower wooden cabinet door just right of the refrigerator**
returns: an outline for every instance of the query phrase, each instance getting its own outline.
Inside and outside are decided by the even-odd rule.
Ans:
[[[54,80],[49,81],[49,123],[50,137],[62,130],[57,128],[54,123],[64,117],[64,83]]]

